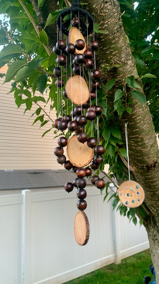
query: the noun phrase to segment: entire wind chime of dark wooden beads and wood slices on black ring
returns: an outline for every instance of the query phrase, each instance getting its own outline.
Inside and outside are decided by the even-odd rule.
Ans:
[[[70,19],[63,22],[64,17],[70,14]],[[73,28],[68,31],[72,24]],[[88,25],[89,24],[89,25]],[[57,17],[57,27],[60,31],[60,37],[53,47],[53,52],[57,55],[57,67],[53,74],[57,77],[55,82],[57,86],[57,119],[54,121],[54,127],[62,131],[58,138],[58,147],[54,149],[57,156],[57,162],[64,164],[68,170],[68,182],[65,184],[65,190],[70,192],[77,187],[77,208],[80,210],[74,222],[74,234],[79,245],[85,245],[89,239],[89,222],[83,210],[87,207],[85,198],[87,196],[84,177],[91,176],[92,170],[98,170],[103,162],[104,147],[100,145],[98,116],[102,114],[102,107],[98,106],[98,89],[100,88],[100,71],[96,69],[95,52],[98,49],[98,42],[94,40],[94,19],[88,11],[81,9],[80,1],[73,0],[72,6],[61,11]],[[88,36],[93,31],[93,41],[88,44]],[[61,39],[61,34],[68,36],[68,45]],[[87,37],[87,46],[85,38]],[[71,76],[67,78],[67,57],[70,56]],[[73,72],[72,72],[73,63]],[[58,66],[59,65],[59,66]],[[62,79],[62,66],[66,65],[65,89]],[[93,79],[93,80],[92,80]],[[88,85],[87,85],[88,83]],[[67,114],[63,116],[63,97],[67,99]],[[68,114],[68,100],[71,102],[72,111]],[[74,109],[73,109],[73,104]],[[85,114],[85,109],[87,109]],[[61,115],[61,117],[59,117]],[[89,135],[84,131],[86,124],[90,121]],[[97,139],[93,137],[93,122],[96,122]],[[70,139],[64,134],[64,131],[75,132],[71,134]],[[94,128],[95,129],[95,128]],[[89,137],[90,136],[90,137]],[[63,147],[67,147],[67,156],[64,155]],[[90,167],[85,167],[90,164]],[[72,169],[77,178],[71,183],[69,181],[69,170]],[[102,190],[105,186],[103,179],[93,175],[91,182],[98,189]]]

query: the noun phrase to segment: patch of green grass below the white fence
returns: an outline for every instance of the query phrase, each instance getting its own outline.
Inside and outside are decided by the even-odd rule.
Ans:
[[[65,284],[142,284],[143,277],[152,274],[150,250],[139,252],[121,260],[121,264],[110,264]]]

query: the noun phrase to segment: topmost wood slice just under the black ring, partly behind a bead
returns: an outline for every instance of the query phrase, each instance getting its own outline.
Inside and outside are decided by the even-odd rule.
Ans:
[[[75,42],[77,39],[83,39],[84,42],[85,42],[85,38],[83,36],[83,34],[79,31],[78,28],[74,27],[72,28],[70,31],[69,31],[69,34],[68,34],[68,42],[69,43],[73,43],[75,45]],[[86,43],[85,43],[85,47],[82,49],[82,50],[78,50],[76,49],[75,53],[78,54],[78,53],[82,53],[86,50]]]

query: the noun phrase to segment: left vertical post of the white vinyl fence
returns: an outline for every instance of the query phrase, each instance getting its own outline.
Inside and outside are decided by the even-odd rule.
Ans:
[[[31,284],[31,190],[22,190],[22,284]]]

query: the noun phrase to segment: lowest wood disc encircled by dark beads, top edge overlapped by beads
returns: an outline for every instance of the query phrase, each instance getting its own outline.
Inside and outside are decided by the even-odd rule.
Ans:
[[[80,143],[77,140],[77,135],[74,135],[68,140],[67,156],[74,166],[83,168],[93,159],[94,149],[89,148],[87,142],[84,144]]]

